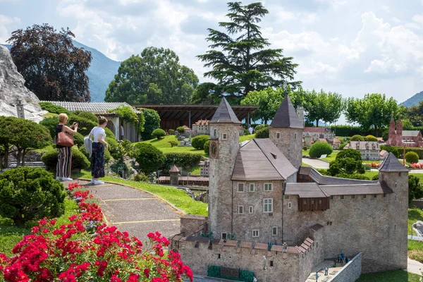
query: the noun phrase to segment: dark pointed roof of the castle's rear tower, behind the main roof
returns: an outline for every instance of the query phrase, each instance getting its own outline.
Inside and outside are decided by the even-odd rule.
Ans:
[[[300,118],[298,118],[297,112],[290,101],[288,95],[283,99],[281,106],[276,115],[271,121],[269,127],[271,128],[304,128]]]

